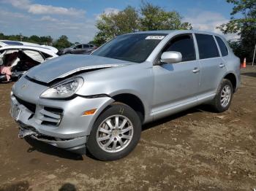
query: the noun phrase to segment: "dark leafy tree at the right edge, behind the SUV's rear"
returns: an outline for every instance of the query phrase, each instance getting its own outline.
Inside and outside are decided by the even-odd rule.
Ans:
[[[256,43],[256,1],[227,0],[227,2],[234,5],[230,13],[230,21],[217,28],[224,34],[233,33],[241,36],[241,43],[233,42],[231,47],[239,58],[247,58],[247,61],[251,61]]]

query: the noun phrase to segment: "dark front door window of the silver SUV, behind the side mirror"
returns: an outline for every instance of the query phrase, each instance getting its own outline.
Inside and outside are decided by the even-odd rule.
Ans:
[[[195,60],[195,46],[193,37],[190,34],[174,37],[168,42],[162,52],[177,51],[181,52],[182,61]]]

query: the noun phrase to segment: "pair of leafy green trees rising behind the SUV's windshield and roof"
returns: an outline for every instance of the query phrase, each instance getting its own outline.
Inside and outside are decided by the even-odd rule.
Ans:
[[[182,23],[178,12],[167,12],[161,7],[143,1],[140,10],[128,6],[117,13],[100,15],[97,20],[99,32],[94,36],[92,43],[97,46],[110,39],[134,31],[192,29],[190,23]]]

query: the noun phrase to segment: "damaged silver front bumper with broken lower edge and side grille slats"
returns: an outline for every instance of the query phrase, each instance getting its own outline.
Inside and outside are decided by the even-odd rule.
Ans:
[[[79,95],[70,100],[42,99],[39,95],[46,87],[25,80],[22,78],[16,82],[10,95],[10,114],[20,128],[18,137],[31,137],[83,154],[94,121],[113,99]],[[97,111],[84,116],[83,112],[89,109]]]

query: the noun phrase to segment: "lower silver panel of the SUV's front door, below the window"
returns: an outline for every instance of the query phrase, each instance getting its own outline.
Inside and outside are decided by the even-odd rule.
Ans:
[[[195,68],[199,68],[198,61],[154,66],[153,113],[197,100],[200,73],[193,73]]]

